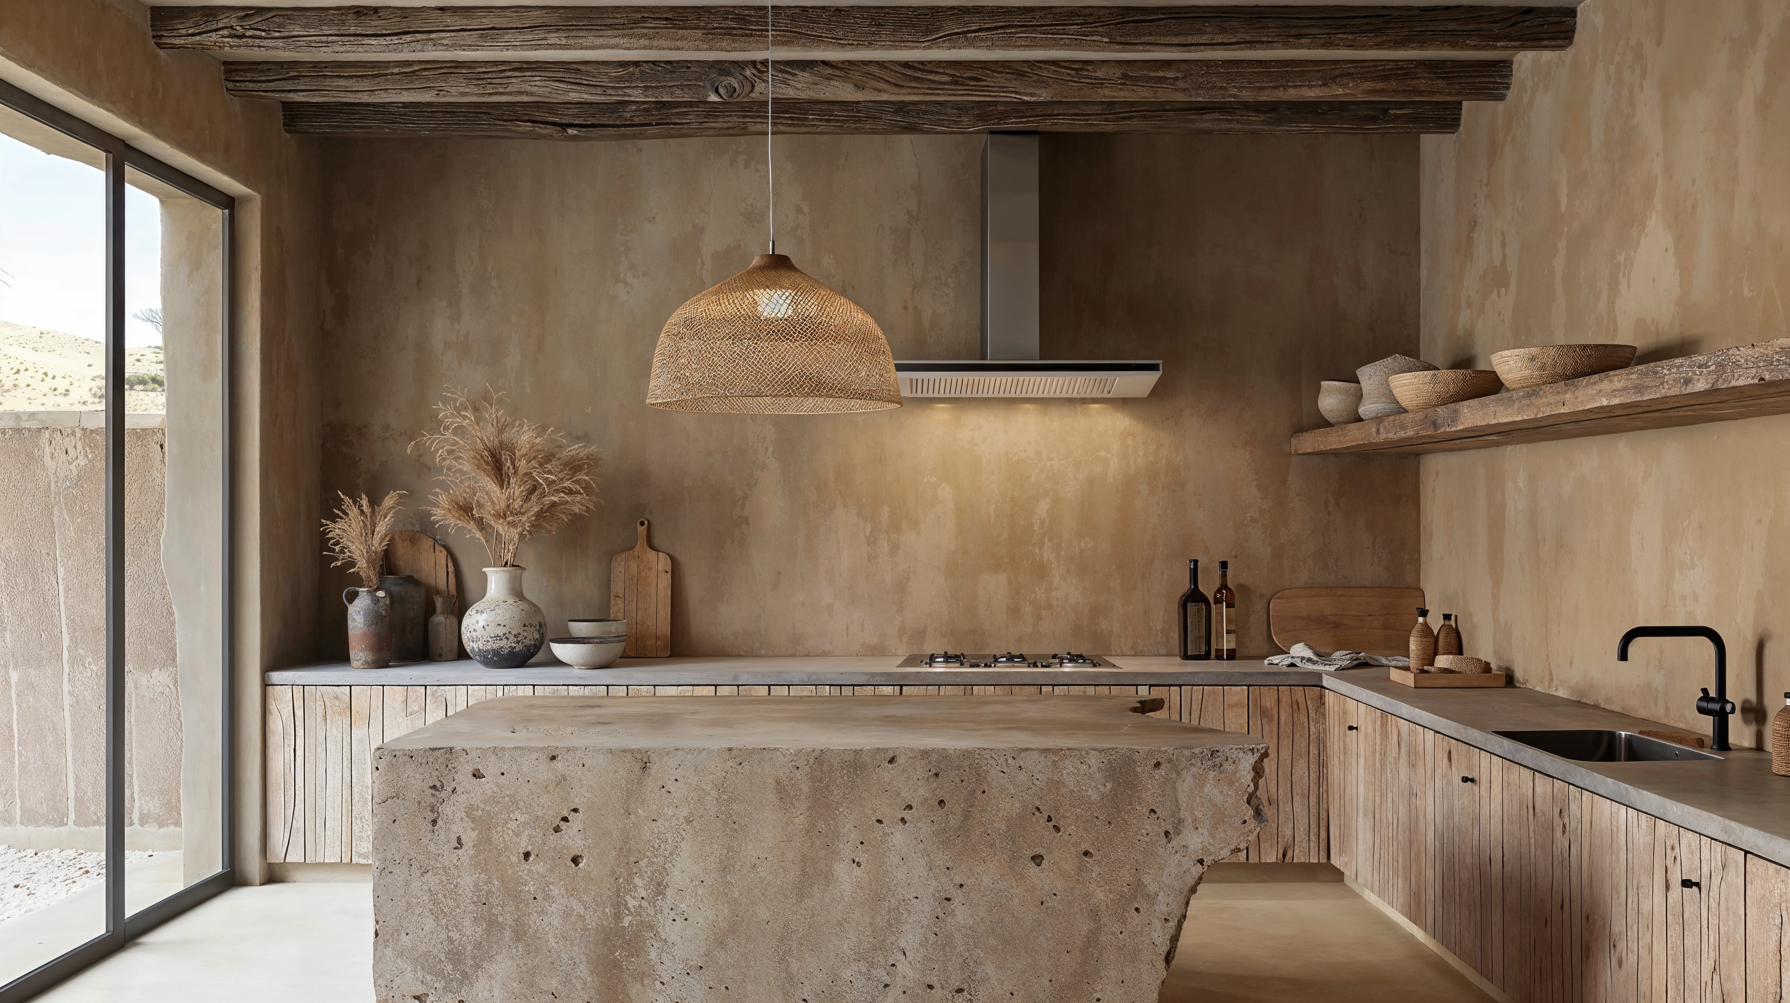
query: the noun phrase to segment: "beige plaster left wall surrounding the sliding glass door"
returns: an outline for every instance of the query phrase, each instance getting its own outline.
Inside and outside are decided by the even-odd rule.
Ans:
[[[260,881],[261,672],[315,647],[317,211],[279,106],[163,52],[136,0],[7,0],[0,79],[236,195],[233,322],[238,876]]]

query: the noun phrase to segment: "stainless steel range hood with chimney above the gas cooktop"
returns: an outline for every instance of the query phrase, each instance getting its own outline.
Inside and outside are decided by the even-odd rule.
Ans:
[[[983,145],[983,356],[897,362],[904,398],[1146,398],[1162,362],[1038,358],[1038,134]]]

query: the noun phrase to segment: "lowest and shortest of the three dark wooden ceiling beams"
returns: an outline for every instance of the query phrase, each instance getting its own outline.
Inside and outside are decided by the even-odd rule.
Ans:
[[[286,104],[288,133],[320,136],[521,136],[669,140],[755,136],[764,107],[741,102]],[[1455,133],[1455,102],[779,102],[777,133]]]

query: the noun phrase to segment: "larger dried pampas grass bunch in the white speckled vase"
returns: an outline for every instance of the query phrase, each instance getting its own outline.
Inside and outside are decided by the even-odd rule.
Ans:
[[[446,482],[424,512],[476,536],[492,566],[514,566],[524,539],[560,530],[596,507],[596,450],[505,414],[501,394],[474,403],[449,390],[435,417],[439,430],[410,444],[435,453]]]

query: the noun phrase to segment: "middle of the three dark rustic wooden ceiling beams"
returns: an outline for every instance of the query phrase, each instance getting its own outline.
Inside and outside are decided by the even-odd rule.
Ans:
[[[764,61],[226,63],[240,97],[297,102],[764,100]],[[779,61],[789,100],[1504,100],[1504,59]]]

